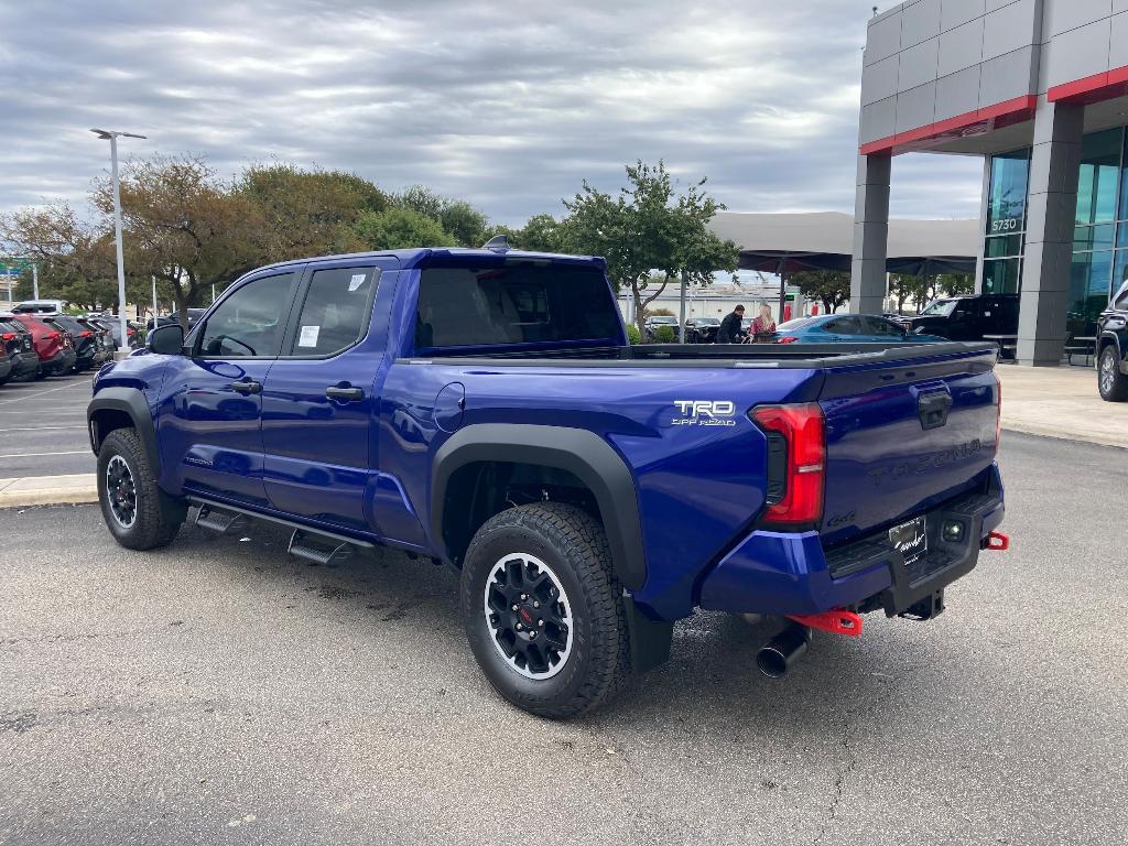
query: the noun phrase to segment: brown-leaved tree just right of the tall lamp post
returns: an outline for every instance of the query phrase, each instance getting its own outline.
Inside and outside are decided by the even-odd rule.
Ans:
[[[162,281],[185,331],[187,309],[202,291],[262,264],[266,221],[261,206],[221,182],[199,157],[130,160],[121,194],[125,266],[146,283],[150,275]],[[109,179],[102,179],[92,200],[107,219],[112,196]]]

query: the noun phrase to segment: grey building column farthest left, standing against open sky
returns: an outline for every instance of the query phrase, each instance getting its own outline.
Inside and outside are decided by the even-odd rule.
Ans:
[[[880,315],[885,302],[891,164],[888,153],[857,157],[854,258],[849,274],[849,310],[856,315]]]

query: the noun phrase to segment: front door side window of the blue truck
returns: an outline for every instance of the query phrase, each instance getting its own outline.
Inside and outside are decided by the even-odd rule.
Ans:
[[[240,285],[208,318],[196,354],[209,359],[277,355],[293,281],[293,273],[281,273]]]

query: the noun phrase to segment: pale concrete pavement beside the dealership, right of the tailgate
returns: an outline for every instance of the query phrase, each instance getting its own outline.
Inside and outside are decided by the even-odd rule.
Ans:
[[[1128,449],[1128,403],[1105,403],[1093,368],[1001,364],[1003,429]]]

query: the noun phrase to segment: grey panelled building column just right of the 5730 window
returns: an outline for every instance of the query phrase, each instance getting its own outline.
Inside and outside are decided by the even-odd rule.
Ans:
[[[1085,107],[1039,98],[1019,301],[1020,364],[1057,367],[1066,337]]]

